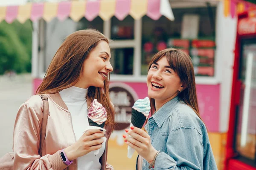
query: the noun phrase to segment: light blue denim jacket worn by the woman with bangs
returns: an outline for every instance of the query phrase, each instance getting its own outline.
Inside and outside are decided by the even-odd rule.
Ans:
[[[161,151],[154,170],[217,170],[207,128],[178,97],[148,118],[145,130],[152,146]],[[148,166],[143,159],[142,170],[148,170]]]

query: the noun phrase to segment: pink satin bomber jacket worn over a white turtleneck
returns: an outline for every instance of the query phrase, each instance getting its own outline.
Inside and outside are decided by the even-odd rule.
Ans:
[[[44,104],[39,95],[33,95],[23,103],[17,113],[13,134],[14,170],[77,170],[77,159],[68,167],[60,157],[60,151],[76,142],[70,112],[59,93],[47,95],[49,116],[45,142],[40,147],[40,129]],[[107,164],[108,139],[110,130],[106,131],[106,147],[100,158],[101,170],[112,170]]]

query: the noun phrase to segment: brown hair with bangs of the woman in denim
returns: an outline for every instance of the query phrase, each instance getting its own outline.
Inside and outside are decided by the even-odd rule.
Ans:
[[[149,63],[148,70],[153,63],[156,63],[158,60],[160,60],[160,58],[164,56],[166,56],[169,65],[177,73],[180,81],[185,87],[185,89],[183,89],[183,91],[178,94],[180,100],[182,100],[185,104],[191,107],[201,119],[195,89],[195,74],[191,58],[189,57],[189,55],[179,49],[164,49],[154,55],[154,57],[151,59],[151,62]],[[151,114],[153,114],[156,110],[155,101],[153,98],[150,98],[150,103]]]

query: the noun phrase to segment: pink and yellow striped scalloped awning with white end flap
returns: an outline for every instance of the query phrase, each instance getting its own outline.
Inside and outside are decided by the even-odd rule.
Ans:
[[[36,21],[40,18],[49,22],[54,17],[59,20],[70,17],[74,21],[85,17],[91,21],[97,16],[102,20],[115,16],[123,20],[127,15],[135,20],[144,15],[153,20],[158,20],[162,15],[174,20],[169,0],[71,0],[0,6],[0,22],[6,20],[7,23],[12,23],[15,19],[25,23],[28,19]]]

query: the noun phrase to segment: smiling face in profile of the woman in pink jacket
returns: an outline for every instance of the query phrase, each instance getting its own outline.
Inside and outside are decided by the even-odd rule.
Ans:
[[[113,71],[110,58],[111,53],[108,43],[103,40],[100,41],[84,61],[79,81],[75,86],[80,88],[103,87],[105,79],[108,78],[108,73]]]

